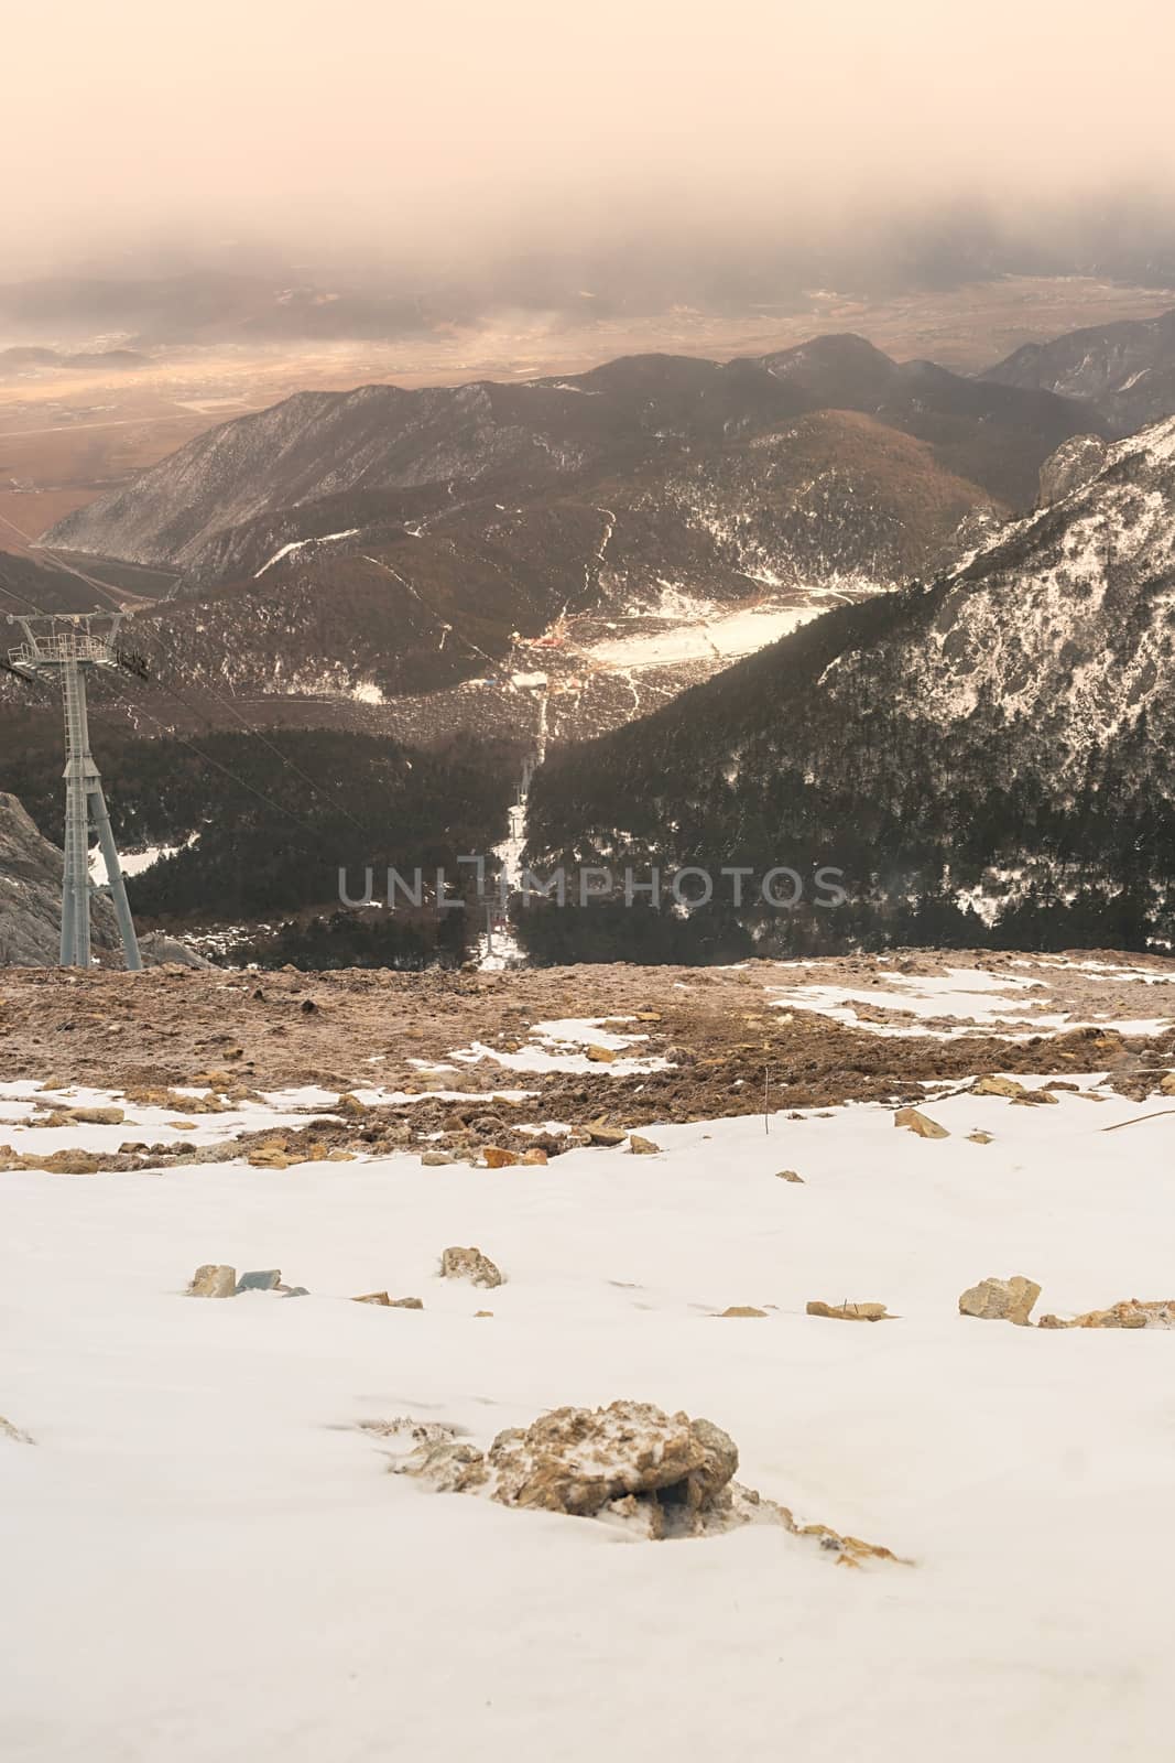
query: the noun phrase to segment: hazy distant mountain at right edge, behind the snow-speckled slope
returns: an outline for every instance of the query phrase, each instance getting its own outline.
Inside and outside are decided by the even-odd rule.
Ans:
[[[1025,344],[987,384],[1085,400],[1119,435],[1175,414],[1175,310]]]

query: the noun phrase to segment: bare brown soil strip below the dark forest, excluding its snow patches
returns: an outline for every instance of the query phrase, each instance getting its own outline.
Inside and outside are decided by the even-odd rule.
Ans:
[[[1076,959],[1105,966],[1085,971]],[[893,994],[895,975],[935,978],[951,968],[994,977],[1006,971],[1008,998],[988,989],[981,1001],[1016,1005],[1008,1031],[1024,1038],[978,1024],[965,1031],[969,1019],[958,1014],[921,1017],[920,1031],[905,1035],[847,1026],[803,1008],[807,986],[876,986]],[[1025,978],[1036,982],[1029,993],[1013,987]],[[914,1026],[891,1007],[856,1008],[879,1026]],[[958,1000],[951,1008],[958,1012]],[[610,1063],[599,1063],[565,1075],[509,1070],[491,1056],[458,1068],[449,1061],[472,1042],[502,1053],[536,1045],[530,1031],[543,1021],[631,1019],[638,1012],[650,1019],[613,1024],[618,1033],[647,1037],[624,1056],[661,1056],[669,1068],[617,1075]],[[574,1125],[606,1114],[639,1127],[757,1112],[765,1091],[772,1109],[916,1100],[925,1082],[987,1072],[1108,1070],[1115,1086],[1147,1095],[1175,1063],[1173,1012],[1175,963],[1113,954],[897,952],[888,961],[705,970],[617,964],[493,975],[9,970],[0,977],[0,1079],[166,1088],[215,1070],[248,1090],[321,1084],[335,1091],[447,1088],[491,1095],[525,1088],[536,1091],[525,1109],[530,1121]],[[1032,1033],[1038,1014],[1068,1014],[1092,1026]],[[1157,1023],[1159,1031],[1122,1035],[1115,1021]],[[948,1030],[955,1038],[941,1038]],[[446,1063],[446,1074],[432,1074],[432,1065]],[[456,1125],[454,1107],[409,1104],[418,1130],[433,1132]]]

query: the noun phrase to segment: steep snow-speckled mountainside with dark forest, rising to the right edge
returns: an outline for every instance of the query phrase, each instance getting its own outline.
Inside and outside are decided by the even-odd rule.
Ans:
[[[1168,421],[930,591],[831,612],[553,755],[530,793],[532,857],[831,864],[883,919],[920,894],[957,904],[994,866],[1008,882],[1043,864],[1059,927],[1090,889],[1133,890],[1138,924],[1166,924],[1173,508]]]

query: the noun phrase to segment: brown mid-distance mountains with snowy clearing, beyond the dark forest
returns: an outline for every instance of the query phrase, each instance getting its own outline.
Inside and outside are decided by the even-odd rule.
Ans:
[[[939,571],[1090,427],[1052,393],[898,365],[851,335],[728,363],[301,393],[46,543],[102,578],[111,559],[174,571],[134,631],[211,723],[227,693],[250,718],[410,740],[521,723],[539,746]]]

